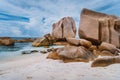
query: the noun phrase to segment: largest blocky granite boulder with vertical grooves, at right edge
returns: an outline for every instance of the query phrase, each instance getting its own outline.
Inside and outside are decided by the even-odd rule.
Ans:
[[[78,32],[95,45],[104,41],[120,47],[120,19],[116,16],[83,9]]]

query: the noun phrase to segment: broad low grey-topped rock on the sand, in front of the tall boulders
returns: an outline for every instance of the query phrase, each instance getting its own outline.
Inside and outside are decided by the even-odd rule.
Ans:
[[[64,48],[59,48],[57,50],[59,56],[63,59],[72,60],[93,60],[95,58],[94,54],[83,46],[66,46]]]

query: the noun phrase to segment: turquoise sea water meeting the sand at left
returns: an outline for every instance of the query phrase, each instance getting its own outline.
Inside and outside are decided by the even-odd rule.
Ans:
[[[20,40],[24,37],[12,37],[13,39]],[[21,55],[22,50],[32,48],[31,43],[15,43],[14,46],[2,46],[0,45],[0,60],[12,58]]]

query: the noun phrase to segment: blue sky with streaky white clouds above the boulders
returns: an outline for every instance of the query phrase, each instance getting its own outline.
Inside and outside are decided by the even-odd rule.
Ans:
[[[78,28],[83,8],[120,16],[120,0],[0,0],[0,36],[43,36],[65,16]]]

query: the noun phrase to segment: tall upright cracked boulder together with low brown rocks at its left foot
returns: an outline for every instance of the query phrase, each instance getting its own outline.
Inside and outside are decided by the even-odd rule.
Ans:
[[[72,17],[62,18],[60,21],[54,23],[52,27],[53,30],[51,34],[46,34],[43,37],[36,39],[32,45],[38,47],[64,44],[66,38],[74,38],[76,36],[76,26]]]

